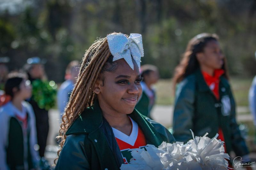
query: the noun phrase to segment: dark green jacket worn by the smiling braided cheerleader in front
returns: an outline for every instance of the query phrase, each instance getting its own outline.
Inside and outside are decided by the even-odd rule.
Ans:
[[[175,142],[161,124],[142,116],[136,109],[129,116],[138,123],[147,144],[158,147]],[[124,163],[112,128],[102,116],[99,102],[88,107],[70,126],[55,169],[120,169]]]

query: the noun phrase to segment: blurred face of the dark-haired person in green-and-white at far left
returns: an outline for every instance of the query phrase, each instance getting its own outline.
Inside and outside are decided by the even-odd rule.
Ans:
[[[14,95],[14,96],[19,96],[20,98],[22,98],[23,100],[28,99],[31,97],[31,85],[30,85],[30,81],[24,79],[21,83],[20,83],[20,90]]]

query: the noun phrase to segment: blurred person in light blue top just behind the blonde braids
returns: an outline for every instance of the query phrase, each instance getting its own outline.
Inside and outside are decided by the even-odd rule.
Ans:
[[[60,89],[57,94],[57,101],[58,101],[58,109],[60,111],[60,120],[62,117],[62,114],[65,111],[65,107],[68,103],[70,94],[74,88],[74,85],[76,84],[76,77],[79,73],[79,62],[77,60],[71,61],[66,69],[66,75],[64,81],[60,85]]]

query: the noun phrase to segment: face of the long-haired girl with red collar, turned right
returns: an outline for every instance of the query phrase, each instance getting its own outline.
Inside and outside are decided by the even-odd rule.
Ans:
[[[202,67],[209,69],[221,69],[224,55],[221,52],[218,41],[212,40],[207,43],[204,52],[197,54],[197,59]]]

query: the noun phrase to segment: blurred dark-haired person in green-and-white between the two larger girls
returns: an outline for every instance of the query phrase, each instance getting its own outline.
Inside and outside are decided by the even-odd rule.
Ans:
[[[135,108],[144,116],[150,117],[150,112],[156,101],[156,92],[152,87],[159,79],[159,72],[156,66],[145,64],[140,68],[143,81],[140,83],[142,94]],[[152,119],[152,118],[151,118]]]

